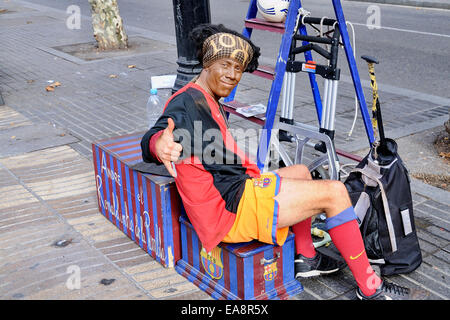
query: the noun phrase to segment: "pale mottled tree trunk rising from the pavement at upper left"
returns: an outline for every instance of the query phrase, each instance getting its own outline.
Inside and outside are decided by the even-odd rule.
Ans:
[[[101,50],[127,48],[128,37],[123,28],[117,0],[89,0],[89,3],[98,48]]]

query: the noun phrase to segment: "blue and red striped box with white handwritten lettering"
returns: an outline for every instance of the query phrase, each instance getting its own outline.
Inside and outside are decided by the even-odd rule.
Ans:
[[[99,211],[165,267],[181,255],[181,199],[171,177],[144,174],[130,166],[141,162],[144,133],[92,144]]]

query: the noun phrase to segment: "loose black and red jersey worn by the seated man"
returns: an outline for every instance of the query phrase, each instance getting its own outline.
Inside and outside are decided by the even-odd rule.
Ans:
[[[144,161],[159,162],[150,151],[150,139],[167,127],[169,117],[175,123],[175,140],[183,146],[175,183],[209,252],[232,227],[245,181],[259,177],[260,170],[237,146],[223,108],[193,82],[169,98],[162,116],[142,138]]]

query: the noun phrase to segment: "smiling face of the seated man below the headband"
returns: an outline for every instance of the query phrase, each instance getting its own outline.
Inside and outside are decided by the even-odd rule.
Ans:
[[[215,61],[205,69],[206,84],[216,99],[227,97],[242,77],[243,66],[232,58]]]

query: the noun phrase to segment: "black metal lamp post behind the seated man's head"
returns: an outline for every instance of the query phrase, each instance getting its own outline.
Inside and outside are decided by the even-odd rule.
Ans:
[[[195,47],[189,39],[189,32],[202,23],[211,22],[209,0],[172,0],[177,38],[178,69],[172,93],[181,89],[196,75],[201,65],[197,60]]]

